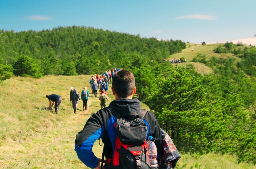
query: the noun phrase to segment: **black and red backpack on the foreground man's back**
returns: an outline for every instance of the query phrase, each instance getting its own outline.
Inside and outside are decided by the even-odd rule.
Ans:
[[[147,124],[142,120],[146,114],[145,109],[139,113],[129,113],[124,115],[114,115],[116,123],[115,150],[113,158],[108,159],[105,168],[129,168],[129,169],[149,169],[150,162],[146,151]],[[104,159],[104,149],[102,159]],[[158,168],[158,167],[154,167]]]

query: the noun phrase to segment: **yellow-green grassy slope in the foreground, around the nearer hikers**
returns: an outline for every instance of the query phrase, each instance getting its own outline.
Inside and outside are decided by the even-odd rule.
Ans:
[[[100,109],[100,101],[90,94],[89,112],[82,111],[80,102],[74,114],[69,87],[81,92],[83,86],[89,88],[89,77],[12,77],[0,83],[0,168],[86,168],[74,151],[75,136],[90,114]],[[41,110],[49,104],[46,94],[61,95],[58,115]],[[108,95],[114,99],[110,91]],[[144,104],[142,107],[147,108]],[[96,142],[96,156],[101,157],[102,149]],[[237,164],[232,155],[181,155],[177,168],[255,168]]]

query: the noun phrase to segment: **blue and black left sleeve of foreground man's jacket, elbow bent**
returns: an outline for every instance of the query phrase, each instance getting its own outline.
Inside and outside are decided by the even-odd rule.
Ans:
[[[104,135],[104,125],[99,112],[94,113],[86,122],[75,140],[75,151],[78,158],[88,167],[96,168],[98,158],[92,152],[93,144]]]

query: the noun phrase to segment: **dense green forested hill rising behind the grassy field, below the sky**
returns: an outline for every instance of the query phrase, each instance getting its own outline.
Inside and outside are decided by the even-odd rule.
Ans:
[[[181,40],[158,41],[154,37],[84,26],[59,26],[42,31],[0,30],[2,64],[12,65],[17,76],[92,74],[110,67],[123,67],[127,60],[118,54],[136,53],[161,62],[185,47]],[[21,70],[24,66],[21,67],[20,62],[24,60],[28,62],[26,69],[31,67],[29,72]]]

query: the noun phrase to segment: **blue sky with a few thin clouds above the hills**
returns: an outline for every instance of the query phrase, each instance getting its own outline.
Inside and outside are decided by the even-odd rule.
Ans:
[[[87,26],[191,43],[252,40],[255,0],[0,0],[0,29]]]

